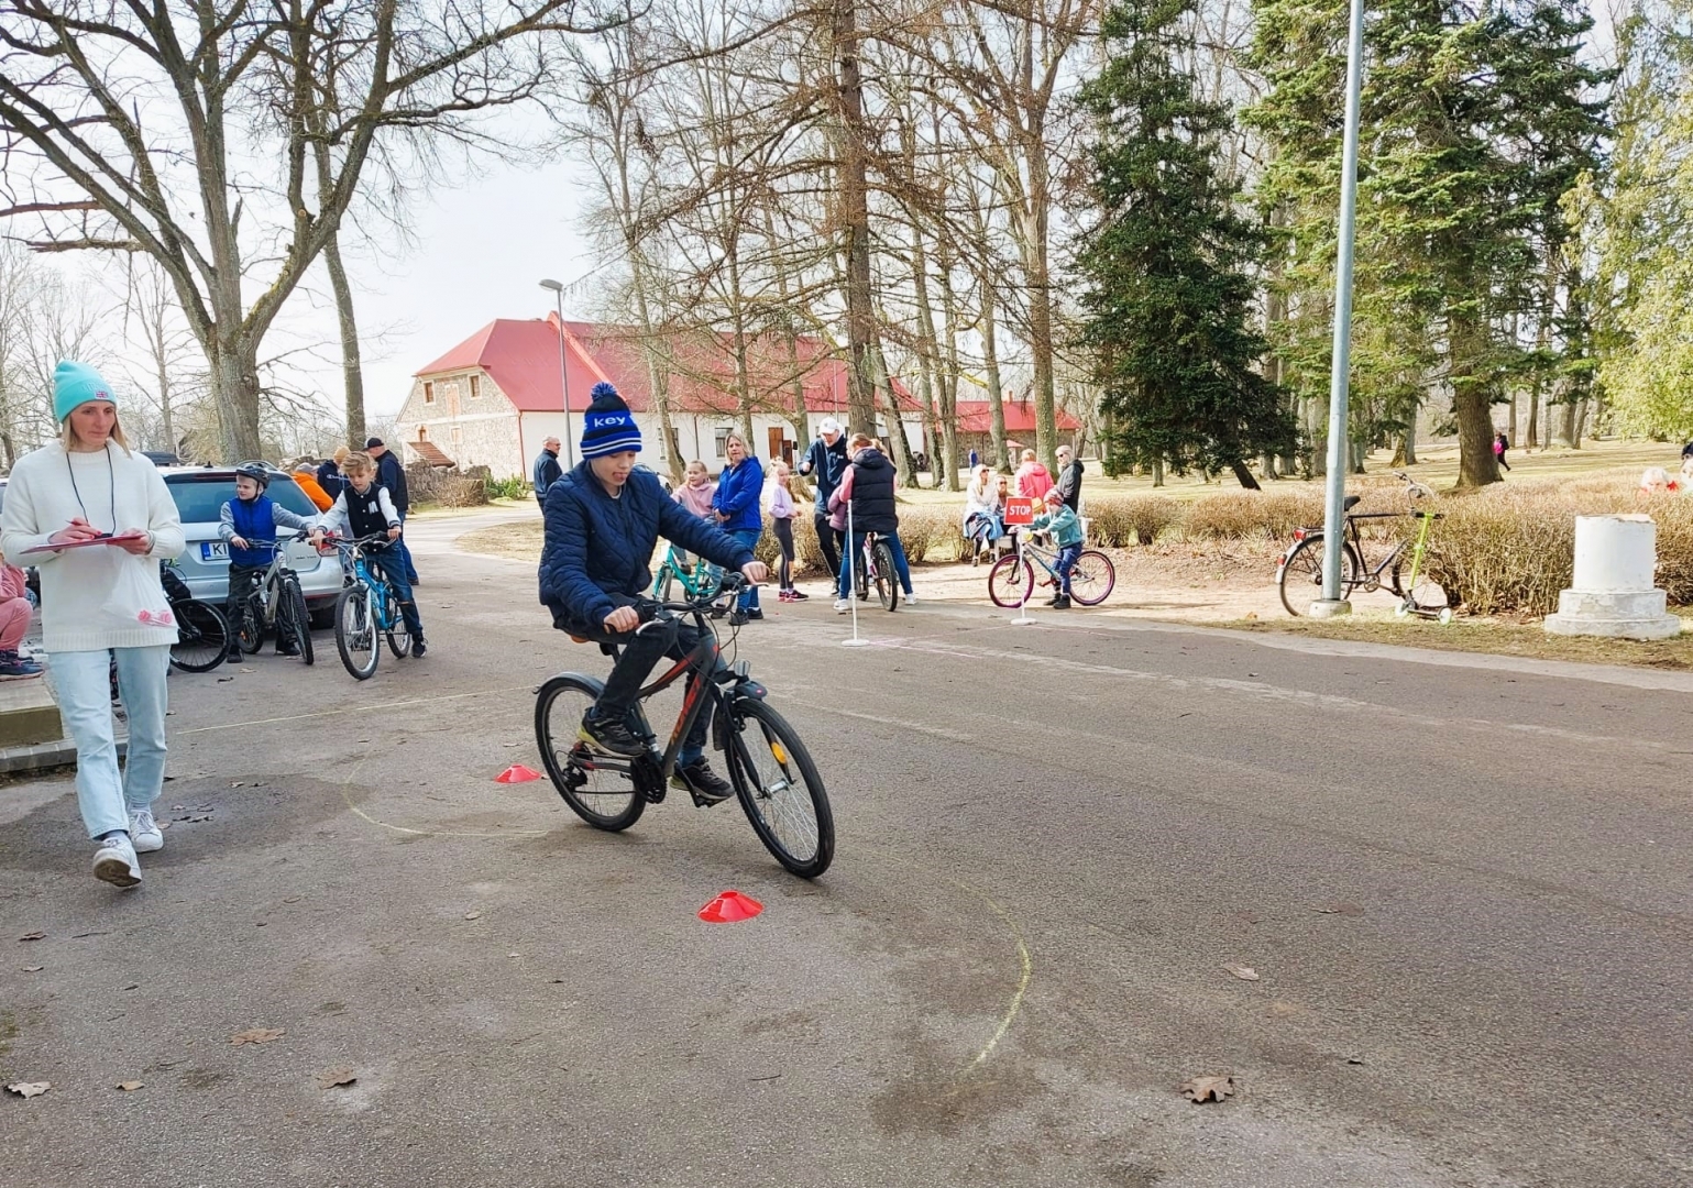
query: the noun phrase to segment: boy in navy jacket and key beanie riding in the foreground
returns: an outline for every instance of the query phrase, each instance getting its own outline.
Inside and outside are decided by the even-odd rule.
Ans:
[[[699,643],[692,623],[635,633],[655,611],[643,594],[652,584],[647,562],[659,536],[738,569],[748,580],[769,577],[750,547],[674,503],[652,470],[637,470],[638,450],[640,426],[628,404],[611,384],[594,384],[582,415],[582,462],[549,491],[540,555],[540,601],[552,611],[552,624],[584,640],[623,645],[604,692],[582,716],[581,738],[626,756],[645,750],[630,729],[630,709],[647,675],[660,657],[681,660]],[[701,714],[682,740],[670,782],[699,804],[718,804],[733,789],[706,763],[706,718]]]

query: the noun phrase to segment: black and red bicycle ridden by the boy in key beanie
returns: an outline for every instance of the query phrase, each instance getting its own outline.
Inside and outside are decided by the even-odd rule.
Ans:
[[[692,616],[699,626],[699,646],[637,696],[630,724],[645,740],[645,755],[603,755],[581,741],[582,712],[599,701],[604,682],[579,672],[559,674],[535,690],[535,741],[571,811],[596,829],[620,833],[640,821],[648,804],[664,800],[682,740],[699,714],[711,714],[711,745],[725,755],[735,795],[758,841],[789,872],[816,878],[835,858],[835,816],[823,777],[794,728],[765,704],[765,689],[752,679],[748,663],[721,665],[718,636],[706,621],[726,614],[743,587],[740,574],[726,574],[716,601],[660,602],[655,618],[638,628],[665,631],[676,616]],[[618,645],[599,646],[618,655]],[[698,679],[660,751],[643,702],[689,674]]]

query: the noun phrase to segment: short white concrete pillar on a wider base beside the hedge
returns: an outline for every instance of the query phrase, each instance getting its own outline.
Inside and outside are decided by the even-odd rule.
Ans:
[[[1681,619],[1668,613],[1668,596],[1654,587],[1657,525],[1651,516],[1576,516],[1576,572],[1546,616],[1552,635],[1602,635],[1620,640],[1668,640]]]

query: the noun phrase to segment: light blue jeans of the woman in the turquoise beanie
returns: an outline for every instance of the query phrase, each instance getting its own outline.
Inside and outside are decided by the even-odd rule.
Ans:
[[[117,687],[129,714],[129,758],[117,770],[112,726],[110,657],[100,652],[54,652],[49,657],[59,716],[76,743],[76,807],[90,838],[129,829],[129,811],[146,809],[164,790],[164,674],[169,645],[115,648]]]

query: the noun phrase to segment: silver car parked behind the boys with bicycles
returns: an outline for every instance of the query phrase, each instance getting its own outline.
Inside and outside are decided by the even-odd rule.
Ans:
[[[176,501],[183,536],[188,540],[176,565],[195,597],[223,606],[229,596],[229,545],[218,538],[217,526],[223,504],[235,498],[235,467],[171,465],[159,467],[159,474]],[[318,514],[317,504],[281,470],[271,474],[266,494],[301,516]],[[288,545],[288,564],[300,574],[300,589],[312,609],[312,626],[332,626],[335,596],[342,584],[340,558],[320,557],[312,545],[298,542]]]

